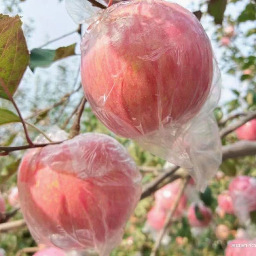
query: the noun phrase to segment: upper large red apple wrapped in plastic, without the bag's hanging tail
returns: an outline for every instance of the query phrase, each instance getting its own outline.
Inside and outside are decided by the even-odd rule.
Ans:
[[[210,40],[178,4],[114,4],[89,26],[81,52],[82,84],[94,114],[126,138],[185,124],[210,92]]]

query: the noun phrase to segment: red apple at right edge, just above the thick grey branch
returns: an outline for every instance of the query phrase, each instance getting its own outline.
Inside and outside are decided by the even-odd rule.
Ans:
[[[238,140],[256,140],[256,119],[237,128],[236,136]]]

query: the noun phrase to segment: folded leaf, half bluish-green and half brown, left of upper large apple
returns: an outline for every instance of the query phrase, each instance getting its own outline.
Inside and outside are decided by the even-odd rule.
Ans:
[[[75,55],[76,44],[60,47],[56,50],[35,48],[30,52],[29,68],[49,67],[54,61]]]

